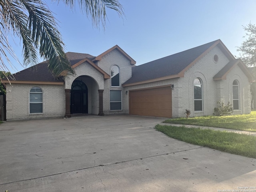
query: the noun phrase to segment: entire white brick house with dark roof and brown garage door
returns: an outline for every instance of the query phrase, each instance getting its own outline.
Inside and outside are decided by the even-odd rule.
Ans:
[[[47,62],[6,83],[6,119],[133,114],[156,117],[212,115],[217,101],[250,113],[252,74],[216,40],[146,64],[119,46],[99,56],[67,52],[75,76],[54,78]]]

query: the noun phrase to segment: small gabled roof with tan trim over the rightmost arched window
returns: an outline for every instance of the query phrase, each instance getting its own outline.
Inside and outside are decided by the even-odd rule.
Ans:
[[[236,65],[238,65],[241,70],[244,72],[244,74],[247,76],[249,82],[254,81],[254,76],[248,70],[248,68],[243,64],[241,59],[235,59],[233,61],[228,62],[214,77],[213,80],[225,80],[227,77],[227,74],[234,68]]]

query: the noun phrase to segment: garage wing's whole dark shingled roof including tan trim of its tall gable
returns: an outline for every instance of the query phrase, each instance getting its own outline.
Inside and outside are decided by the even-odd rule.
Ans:
[[[224,52],[230,60],[234,56],[226,48],[221,40],[216,40],[195,48],[188,49],[164,58],[160,58],[146,64],[132,68],[132,78],[127,80],[122,86],[131,86],[165,80],[170,78],[184,77],[184,72],[195,64],[200,58],[207,54],[213,47],[217,46]]]

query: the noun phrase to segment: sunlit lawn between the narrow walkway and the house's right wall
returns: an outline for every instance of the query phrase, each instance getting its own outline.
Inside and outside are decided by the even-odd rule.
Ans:
[[[168,119],[164,123],[199,125],[256,132],[256,110],[250,114]]]

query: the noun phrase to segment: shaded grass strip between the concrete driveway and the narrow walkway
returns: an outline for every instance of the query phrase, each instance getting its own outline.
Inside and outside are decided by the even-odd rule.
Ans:
[[[156,125],[156,130],[171,138],[212,149],[256,158],[256,137],[234,132],[210,129],[186,128],[184,126]]]

